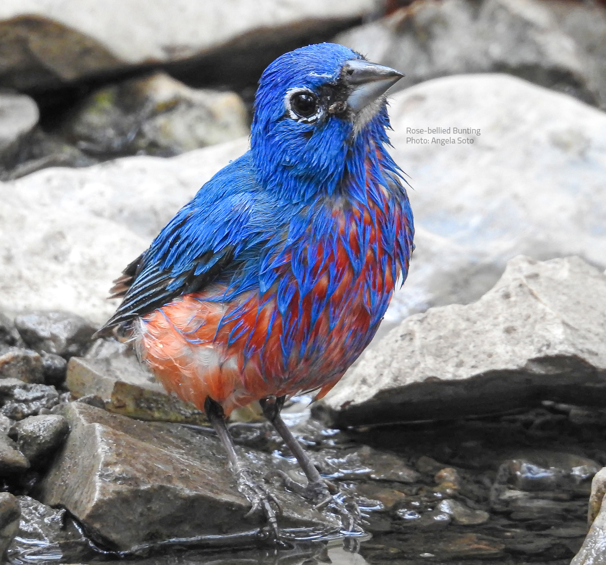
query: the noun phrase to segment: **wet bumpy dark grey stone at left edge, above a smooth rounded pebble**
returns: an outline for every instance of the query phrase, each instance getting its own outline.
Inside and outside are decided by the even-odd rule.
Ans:
[[[55,387],[24,383],[19,379],[0,379],[0,414],[7,418],[23,420],[58,404],[59,393]]]

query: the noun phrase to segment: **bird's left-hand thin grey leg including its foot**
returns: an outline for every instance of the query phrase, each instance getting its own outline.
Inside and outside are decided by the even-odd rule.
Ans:
[[[238,484],[238,490],[246,496],[248,501],[251,504],[251,509],[247,513],[247,516],[261,509],[267,519],[267,523],[271,527],[273,534],[278,541],[279,531],[278,531],[278,518],[276,515],[281,513],[281,509],[278,501],[275,496],[271,493],[267,492],[264,486],[258,484],[254,479],[250,472],[250,469],[242,463],[240,458],[238,457],[238,453],[236,453],[236,446],[233,443],[233,438],[227,429],[227,425],[225,424],[225,414],[223,412],[223,408],[221,404],[215,402],[207,397],[204,403],[204,412],[215,428],[221,443],[225,447],[225,451],[227,451],[227,458],[229,460],[229,464],[232,472],[236,476],[236,481]]]

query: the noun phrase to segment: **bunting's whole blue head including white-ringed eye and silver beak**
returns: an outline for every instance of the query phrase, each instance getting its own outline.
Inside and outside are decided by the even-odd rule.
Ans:
[[[273,61],[259,81],[251,128],[259,182],[296,201],[334,193],[347,159],[363,158],[368,136],[387,141],[384,93],[402,76],[334,43]]]

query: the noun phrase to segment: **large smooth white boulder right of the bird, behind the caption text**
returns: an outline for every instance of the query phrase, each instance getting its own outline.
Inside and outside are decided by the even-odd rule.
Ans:
[[[508,75],[462,75],[396,94],[390,115],[417,232],[388,319],[470,303],[519,254],[606,267],[606,114]],[[480,135],[407,133],[428,127]]]

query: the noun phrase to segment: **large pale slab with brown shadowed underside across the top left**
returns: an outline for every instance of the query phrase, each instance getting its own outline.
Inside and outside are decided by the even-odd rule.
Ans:
[[[199,73],[226,84],[241,75],[258,76],[277,49],[330,37],[374,9],[373,0],[153,0],[144,12],[135,0],[112,1],[102,9],[94,1],[5,0],[0,84],[42,89],[178,62],[187,62],[182,72],[191,75],[200,67]]]

